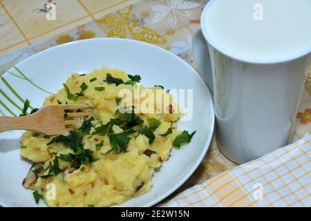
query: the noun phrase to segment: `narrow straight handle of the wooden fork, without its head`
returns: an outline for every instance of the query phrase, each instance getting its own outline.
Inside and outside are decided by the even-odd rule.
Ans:
[[[0,117],[0,132],[12,130],[34,131],[35,122],[31,116],[25,117]]]

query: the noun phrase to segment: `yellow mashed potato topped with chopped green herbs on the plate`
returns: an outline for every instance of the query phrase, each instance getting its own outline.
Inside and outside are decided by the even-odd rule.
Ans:
[[[117,81],[122,79],[123,83],[111,84],[108,76]],[[163,106],[163,101],[155,100],[152,104],[155,113],[133,113],[131,117],[138,122],[129,125],[129,120],[126,122],[124,115],[116,112],[126,101],[118,97],[120,90],[133,93],[135,87],[144,89],[129,77],[122,70],[108,68],[88,75],[73,74],[65,88],[45,99],[44,105],[88,104],[90,109],[77,111],[92,115],[82,121],[84,125],[77,125],[76,133],[71,131],[62,137],[32,131],[23,133],[21,156],[34,162],[23,185],[35,190],[36,200],[41,198],[49,206],[111,206],[150,191],[155,169],[169,159],[173,142],[180,135],[176,121],[182,114],[173,113],[178,106],[172,102],[171,95],[155,86],[149,89],[154,93],[160,91],[171,104]],[[144,99],[132,98],[133,110]],[[163,113],[164,108],[169,113]],[[121,123],[112,123],[106,133],[98,132],[108,127],[111,119],[119,119]],[[120,135],[119,140],[113,137],[116,134]],[[78,140],[80,143],[76,144]],[[52,189],[55,195],[50,192]]]

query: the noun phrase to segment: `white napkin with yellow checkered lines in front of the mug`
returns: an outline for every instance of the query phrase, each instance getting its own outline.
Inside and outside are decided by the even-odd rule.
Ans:
[[[311,134],[179,193],[162,206],[311,206]]]

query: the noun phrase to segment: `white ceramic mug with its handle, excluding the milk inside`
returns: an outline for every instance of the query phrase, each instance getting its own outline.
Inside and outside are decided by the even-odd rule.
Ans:
[[[236,59],[210,44],[202,17],[193,50],[200,75],[214,93],[220,150],[243,164],[288,144],[311,52],[267,63]]]

